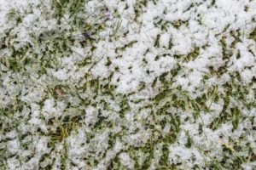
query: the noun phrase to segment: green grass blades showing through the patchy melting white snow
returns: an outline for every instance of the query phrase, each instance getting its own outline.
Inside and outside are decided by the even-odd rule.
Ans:
[[[157,1],[152,1],[157,3]],[[120,120],[125,120],[125,116],[131,111],[134,111],[134,105],[137,108],[136,114],[134,116],[134,122],[137,122],[141,127],[147,129],[151,136],[147,142],[135,147],[133,145],[128,145],[126,149],[121,150],[127,152],[131,158],[135,161],[135,169],[147,169],[151,166],[152,161],[154,160],[154,150],[156,150],[158,144],[162,144],[162,156],[160,156],[160,161],[158,163],[158,169],[179,169],[181,163],[174,164],[169,160],[169,147],[172,144],[177,144],[177,141],[180,137],[180,133],[183,133],[183,123],[191,122],[198,123],[198,136],[207,135],[204,132],[204,128],[210,128],[212,131],[218,130],[224,123],[230,122],[233,126],[232,131],[235,132],[243,122],[250,122],[253,125],[253,116],[243,113],[243,107],[238,104],[243,104],[248,111],[253,111],[255,108],[255,99],[248,99],[247,95],[249,94],[248,85],[241,84],[242,79],[239,72],[228,71],[227,62],[231,59],[233,50],[236,49],[236,44],[241,42],[241,31],[230,31],[230,36],[234,38],[234,41],[231,43],[227,42],[226,37],[221,37],[219,40],[219,45],[222,48],[223,59],[227,62],[217,70],[214,70],[213,67],[209,67],[209,73],[203,77],[203,82],[205,83],[204,94],[197,98],[192,98],[188,91],[183,89],[181,86],[175,86],[175,81],[177,75],[180,75],[184,72],[183,64],[188,62],[193,62],[195,59],[198,59],[201,54],[202,48],[207,48],[207,45],[204,47],[195,47],[191,50],[189,54],[175,54],[173,57],[177,59],[176,68],[172,71],[166,71],[156,77],[154,82],[147,84],[146,82],[140,82],[139,87],[136,92],[131,92],[129,94],[119,94],[116,90],[116,86],[111,84],[113,79],[114,71],[109,75],[109,77],[93,77],[91,74],[91,69],[98,64],[102,59],[106,58],[105,66],[108,68],[113,65],[110,56],[105,56],[105,54],[100,59],[95,59],[93,53],[88,54],[84,57],[83,54],[75,51],[72,46],[79,44],[80,47],[86,48],[90,47],[90,50],[93,52],[96,49],[95,43],[99,40],[99,34],[101,31],[106,29],[108,25],[105,23],[105,17],[103,14],[96,16],[96,14],[87,14],[84,11],[84,4],[87,3],[85,0],[57,0],[53,1],[52,9],[54,10],[54,16],[51,16],[57,20],[58,28],[55,31],[45,31],[42,32],[38,37],[31,35],[32,42],[35,46],[32,46],[29,43],[26,43],[19,49],[13,48],[11,40],[17,35],[10,35],[9,32],[6,32],[6,36],[3,37],[4,44],[1,43],[0,48],[10,48],[12,49],[10,56],[3,56],[0,58],[0,77],[3,77],[8,71],[15,75],[19,73],[20,78],[14,78],[15,81],[9,82],[9,85],[14,85],[15,88],[20,88],[19,93],[15,95],[14,100],[10,102],[8,107],[0,108],[0,135],[5,135],[11,130],[15,129],[15,132],[20,134],[19,126],[22,122],[27,122],[29,120],[28,114],[26,117],[20,118],[21,111],[26,108],[30,108],[30,105],[26,105],[26,102],[21,101],[20,94],[22,88],[29,88],[25,84],[27,82],[33,88],[44,88],[44,97],[37,104],[40,107],[40,110],[44,107],[45,99],[55,99],[55,101],[63,101],[67,104],[67,108],[63,111],[63,115],[60,117],[50,118],[45,120],[44,116],[41,116],[41,121],[46,123],[48,133],[41,132],[38,129],[36,135],[46,135],[49,137],[49,148],[52,152],[56,149],[57,144],[62,144],[63,149],[60,151],[61,156],[61,169],[68,169],[69,165],[72,165],[70,162],[68,151],[70,146],[67,144],[67,138],[73,134],[78,134],[78,129],[86,127],[84,125],[83,119],[86,116],[84,109],[86,107],[93,106],[98,108],[99,116],[98,121],[94,125],[90,125],[90,130],[86,132],[86,137],[88,141],[86,144],[91,147],[96,147],[94,144],[94,139],[96,135],[101,134],[105,130],[113,129],[114,127],[119,126],[117,124],[117,119],[110,120],[108,117],[102,116],[103,111],[108,111],[108,113],[113,117],[118,117]],[[148,7],[148,1],[139,0],[136,1],[134,11],[135,17],[134,20],[137,21],[138,18],[144,13],[145,8]],[[212,6],[215,4],[215,1],[212,1]],[[194,8],[195,4],[191,4],[190,8]],[[166,13],[166,10],[164,11]],[[67,19],[66,16],[69,16]],[[118,13],[118,10],[115,10],[114,15],[116,15],[117,20],[113,23],[112,31],[110,32],[111,41],[118,41],[119,37],[119,28],[122,25],[122,16]],[[9,20],[12,20],[15,23],[15,26],[19,26],[22,23],[23,18],[20,17],[18,11],[11,10],[9,12]],[[88,18],[94,18],[93,22],[86,20]],[[67,30],[61,28],[62,24],[69,22],[68,25],[72,26],[69,31],[80,32],[82,33],[82,38],[74,37],[73,35],[67,34]],[[161,31],[166,32],[170,28],[180,29],[182,26],[188,26],[189,20],[175,20],[169,22],[160,18],[154,20],[154,26],[160,28]],[[228,31],[229,26],[226,26],[224,31]],[[255,41],[255,29],[249,34],[249,38]],[[86,35],[83,37],[83,35]],[[154,48],[163,48],[160,46],[160,36],[157,34],[154,41]],[[137,40],[126,42],[125,45],[115,48],[116,53],[122,53],[127,50],[127,48],[134,48],[137,45]],[[170,38],[169,46],[166,47],[166,50],[171,50],[174,46],[172,38]],[[43,50],[42,56],[40,54],[34,53],[35,49],[45,47]],[[150,51],[148,48],[146,54]],[[81,62],[78,62],[75,66],[78,66],[78,69],[89,66],[90,69],[81,81],[76,82],[74,80],[60,81],[56,79],[53,75],[50,75],[50,70],[58,70],[63,67],[61,64],[61,59],[65,56],[71,54],[78,54],[80,57],[85,58]],[[251,52],[253,54],[253,52]],[[32,56],[31,56],[32,55]],[[156,55],[155,61],[158,61],[160,57],[168,56],[168,51],[162,55]],[[122,57],[122,56],[121,56]],[[237,53],[236,59],[241,58],[240,52]],[[32,66],[33,65],[33,66]],[[143,65],[148,65],[148,60],[143,59]],[[116,68],[115,71],[119,71],[122,68]],[[131,69],[131,67],[130,67]],[[223,87],[218,85],[208,85],[207,81],[211,77],[222,77],[224,73],[229,73],[231,80],[226,82]],[[37,73],[38,77],[34,77],[33,73]],[[149,71],[148,71],[149,75]],[[15,76],[14,76],[15,77]],[[27,78],[25,82],[22,82],[22,78]],[[42,77],[48,77],[48,80],[44,80]],[[41,79],[42,78],[42,79]],[[41,81],[44,80],[44,81]],[[2,86],[3,82],[0,82]],[[143,94],[147,90],[147,86],[155,88],[157,83],[160,84],[160,91],[151,99],[137,99],[137,94]],[[198,89],[200,90],[200,89]],[[146,91],[147,92],[147,91]],[[9,92],[7,92],[9,93]],[[10,94],[11,95],[11,94]],[[26,94],[24,94],[26,95]],[[79,100],[79,106],[72,105],[70,98],[77,97]],[[224,106],[219,116],[217,116],[209,125],[206,125],[203,122],[202,114],[214,114],[212,111],[213,104],[218,103],[220,100],[224,101]],[[238,101],[234,103],[235,101]],[[111,102],[114,105],[118,105],[119,109],[114,108],[111,105]],[[239,103],[240,102],[240,103]],[[148,111],[148,116],[140,118],[139,115],[143,112]],[[183,114],[191,111],[192,116],[187,117],[183,120]],[[170,124],[171,129],[169,133],[162,133],[163,128],[167,124]],[[88,128],[89,128],[88,127]],[[139,128],[132,131],[129,126],[121,124],[122,128],[119,133],[110,133],[108,140],[108,150],[113,150],[116,140],[119,139],[121,142],[125,143],[125,139],[122,137],[129,134],[135,134],[140,131]],[[210,156],[211,150],[205,150],[201,148],[201,145],[195,144],[195,139],[189,132],[189,130],[184,131],[186,136],[186,148],[196,148],[200,151],[202,156],[209,158],[211,161],[206,161],[207,167],[211,169],[240,169],[241,164],[249,161],[255,161],[255,155],[253,154],[253,149],[249,152],[249,156],[240,156],[240,152],[244,146],[241,142],[243,139],[228,139],[228,142],[223,139],[219,139],[219,144],[222,145],[222,150],[224,153],[224,158],[221,161],[214,156]],[[30,135],[30,134],[26,134]],[[19,141],[22,147],[22,150],[28,150],[29,147],[32,147],[30,144],[23,144],[22,139],[26,137],[19,135]],[[208,140],[208,139],[207,139]],[[2,142],[2,141],[1,141]],[[8,143],[8,139],[3,140],[4,144]],[[88,151],[89,156],[84,156],[84,160],[87,163],[88,167],[96,167],[99,161],[96,158],[103,159],[106,156],[108,150],[100,150],[97,153],[97,150],[90,149]],[[108,169],[125,169],[121,162],[119,161],[119,153],[113,158],[113,160],[108,165]],[[146,157],[143,161],[143,164],[140,164],[138,161],[139,153],[142,152]],[[1,157],[2,156],[2,157]],[[17,156],[18,160],[24,162],[24,157]],[[6,169],[6,162],[9,158],[8,150],[6,146],[0,148],[0,169]],[[51,159],[49,154],[45,154],[40,162],[43,162],[47,159]],[[52,160],[55,161],[55,160]],[[51,162],[52,163],[52,162]],[[51,165],[45,167],[45,169],[51,169]],[[87,168],[87,167],[86,167]],[[201,165],[195,165],[195,169],[201,169]]]

